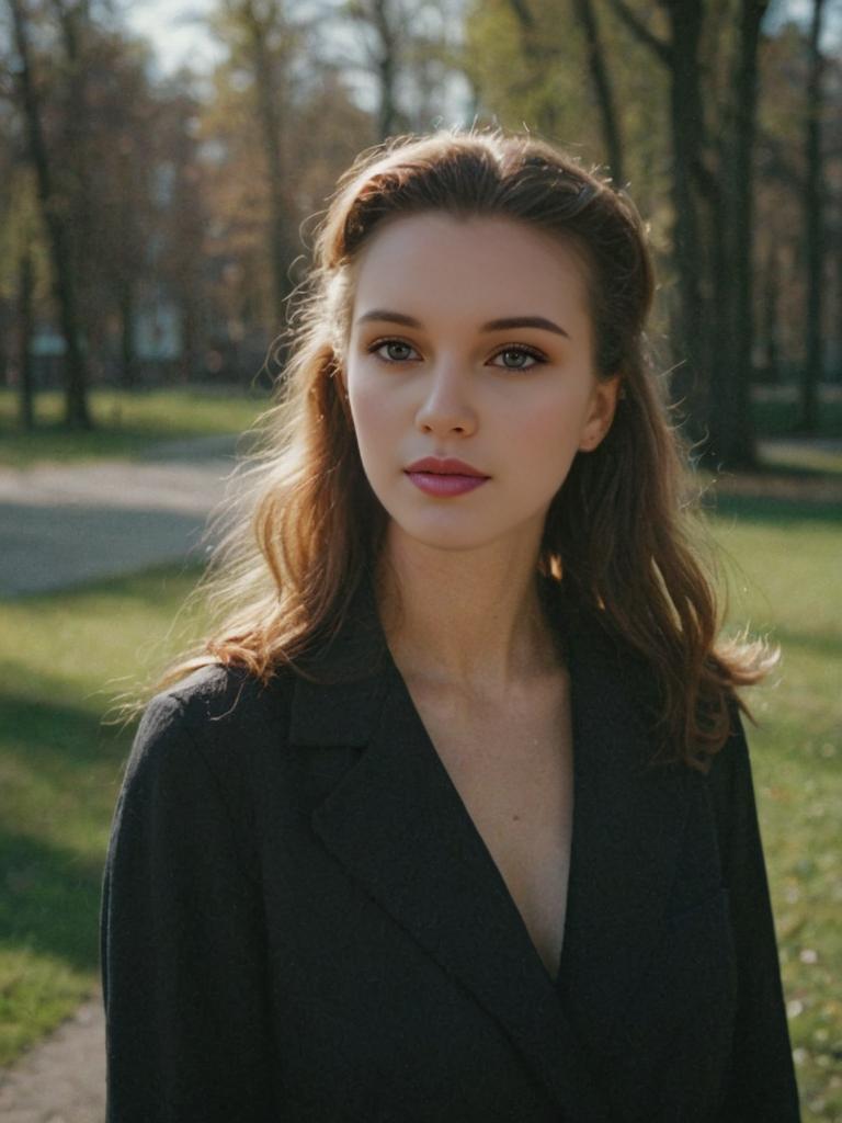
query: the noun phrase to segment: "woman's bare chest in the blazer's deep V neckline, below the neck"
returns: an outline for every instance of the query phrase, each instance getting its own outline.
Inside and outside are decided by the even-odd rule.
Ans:
[[[573,830],[569,688],[558,675],[505,705],[411,687],[419,715],[555,979]]]

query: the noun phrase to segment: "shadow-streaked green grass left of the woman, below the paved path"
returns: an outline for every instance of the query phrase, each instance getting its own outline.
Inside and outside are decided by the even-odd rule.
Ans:
[[[101,718],[189,628],[182,614],[166,639],[195,578],[0,601],[0,1065],[98,980],[102,860],[131,738]]]

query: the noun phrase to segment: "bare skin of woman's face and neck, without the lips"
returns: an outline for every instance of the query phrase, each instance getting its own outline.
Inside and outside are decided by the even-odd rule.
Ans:
[[[418,326],[361,321],[375,310]],[[522,317],[561,332],[486,330]],[[619,389],[597,378],[593,356],[580,257],[524,223],[402,217],[363,250],[344,377],[364,469],[391,517],[382,614],[409,674],[500,699],[551,658],[534,591],[543,522],[574,457],[607,432]],[[405,474],[424,456],[491,478],[430,496]]]

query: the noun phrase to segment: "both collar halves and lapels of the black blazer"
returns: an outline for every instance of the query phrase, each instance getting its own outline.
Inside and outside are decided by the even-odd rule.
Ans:
[[[324,846],[501,1024],[559,1108],[607,1120],[594,1076],[659,934],[686,815],[686,774],[653,750],[639,673],[544,579],[566,650],[574,828],[564,950],[550,979],[391,657],[370,583],[296,678],[291,741],[364,748],[314,810]]]

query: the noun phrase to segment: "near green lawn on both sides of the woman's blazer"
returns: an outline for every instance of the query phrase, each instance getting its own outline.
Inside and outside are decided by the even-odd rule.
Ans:
[[[753,696],[760,727],[747,730],[804,1120],[831,1123],[842,1119],[842,621],[833,608],[842,514],[732,495],[712,524],[729,559],[732,619],[770,630],[784,650],[779,674]],[[0,602],[0,1063],[97,982],[102,859],[130,739],[100,718],[116,679],[173,647],[167,630],[194,579],[158,570]]]

